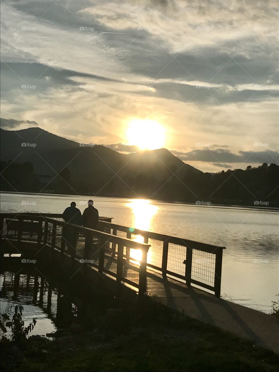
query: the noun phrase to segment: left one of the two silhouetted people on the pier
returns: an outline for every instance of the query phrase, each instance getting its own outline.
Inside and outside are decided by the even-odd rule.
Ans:
[[[62,214],[62,218],[67,224],[74,225],[82,224],[81,212],[78,208],[76,208],[75,202],[71,202],[71,206],[65,209],[65,211]],[[62,228],[62,237],[65,239],[67,247],[69,250],[71,250],[72,254],[73,250],[76,249],[78,230],[71,225],[65,225]]]

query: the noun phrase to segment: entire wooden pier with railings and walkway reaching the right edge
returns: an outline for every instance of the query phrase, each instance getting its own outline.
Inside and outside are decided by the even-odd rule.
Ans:
[[[68,279],[86,280],[121,296],[154,301],[216,325],[279,353],[279,324],[264,314],[220,298],[224,247],[137,230],[99,219],[96,230],[68,224],[60,214],[1,214],[1,256],[44,260]],[[24,262],[24,261],[23,261]],[[75,276],[76,275],[76,276]]]

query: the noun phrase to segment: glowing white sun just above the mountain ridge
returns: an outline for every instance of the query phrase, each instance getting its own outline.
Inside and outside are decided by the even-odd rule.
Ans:
[[[141,150],[155,150],[164,145],[165,129],[154,120],[134,119],[129,122],[126,136],[129,145],[137,145]]]

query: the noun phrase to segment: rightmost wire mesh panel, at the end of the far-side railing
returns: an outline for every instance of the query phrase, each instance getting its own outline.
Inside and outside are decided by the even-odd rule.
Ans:
[[[214,286],[215,254],[193,249],[191,278]]]

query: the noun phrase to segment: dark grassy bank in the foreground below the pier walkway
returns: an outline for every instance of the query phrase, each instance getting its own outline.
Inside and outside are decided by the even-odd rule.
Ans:
[[[278,371],[279,356],[150,299],[53,341],[3,345],[2,371]]]

